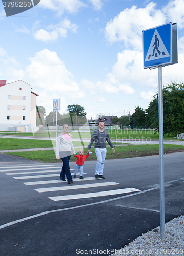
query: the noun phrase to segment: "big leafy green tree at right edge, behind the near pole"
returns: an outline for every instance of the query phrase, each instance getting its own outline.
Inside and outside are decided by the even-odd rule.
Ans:
[[[147,121],[150,126],[158,127],[158,93],[150,102]],[[163,88],[163,133],[177,134],[184,131],[184,84],[171,82]]]

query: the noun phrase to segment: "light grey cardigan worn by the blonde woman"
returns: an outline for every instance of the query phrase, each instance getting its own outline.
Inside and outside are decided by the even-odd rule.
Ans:
[[[59,155],[60,151],[72,151],[73,154],[75,153],[73,143],[72,143],[72,136],[69,133],[69,141],[65,139],[62,133],[60,133],[57,137],[57,148],[56,148],[56,155]]]

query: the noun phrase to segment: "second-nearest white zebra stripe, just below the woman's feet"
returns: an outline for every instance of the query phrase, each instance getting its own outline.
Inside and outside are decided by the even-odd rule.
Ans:
[[[36,190],[39,193],[43,193],[43,192],[51,192],[51,191],[62,191],[62,190],[90,188],[90,187],[103,187],[103,186],[112,186],[112,185],[119,185],[119,183],[112,181],[112,182],[101,182],[101,183],[92,183],[92,184],[75,185],[75,186],[36,188],[34,190]]]

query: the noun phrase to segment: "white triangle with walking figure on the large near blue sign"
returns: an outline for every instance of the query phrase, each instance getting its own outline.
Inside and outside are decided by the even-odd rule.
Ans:
[[[170,57],[170,55],[165,45],[163,44],[163,41],[157,29],[155,29],[155,32],[153,34],[153,37],[150,43],[150,47],[148,49],[148,52],[145,58],[145,62],[150,60],[155,60],[155,59],[166,58],[166,57]]]

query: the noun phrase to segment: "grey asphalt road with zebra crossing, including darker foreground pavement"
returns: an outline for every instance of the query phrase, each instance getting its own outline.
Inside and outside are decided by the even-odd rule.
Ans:
[[[165,155],[166,222],[184,214],[183,159]],[[95,163],[86,161],[84,180],[68,185],[61,163],[0,154],[1,255],[110,255],[160,225],[159,156],[106,160],[100,180]]]

